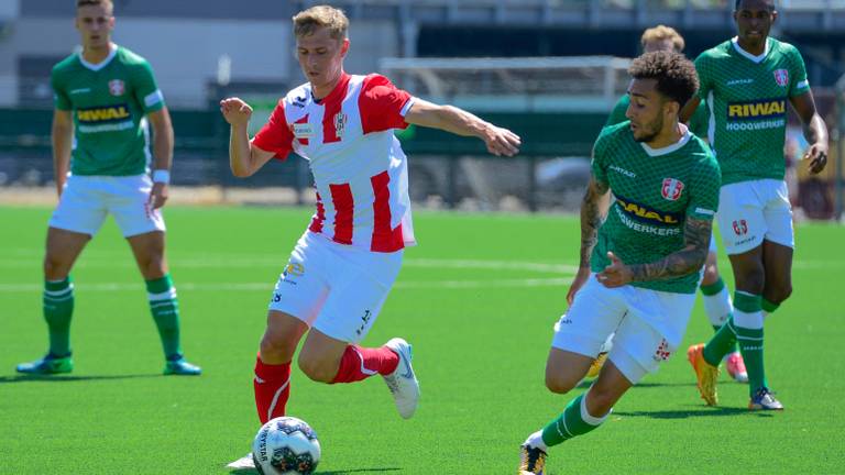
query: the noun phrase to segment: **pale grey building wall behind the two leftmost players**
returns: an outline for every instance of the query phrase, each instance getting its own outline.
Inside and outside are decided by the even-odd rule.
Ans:
[[[9,0],[0,0],[3,1]],[[217,78],[218,59],[223,54],[231,58],[232,81],[257,79],[292,85],[304,81],[294,57],[289,21],[152,18],[118,18],[117,21],[114,41],[150,60],[172,107],[206,106],[206,84]],[[381,57],[398,54],[396,29],[389,21],[353,22],[350,37],[352,48],[345,62],[349,73],[374,73]],[[78,44],[79,34],[72,18],[19,19],[12,37],[0,42],[0,63],[9,63],[6,67],[0,65],[0,75],[17,64],[20,55],[65,56]],[[0,102],[4,96],[0,93]]]

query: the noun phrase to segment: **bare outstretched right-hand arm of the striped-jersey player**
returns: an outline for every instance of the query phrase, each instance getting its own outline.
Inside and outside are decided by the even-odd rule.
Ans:
[[[496,156],[514,156],[519,153],[519,135],[493,125],[454,106],[438,106],[421,99],[405,114],[405,121],[415,125],[440,129],[457,135],[476,136],[487,145],[487,152]]]

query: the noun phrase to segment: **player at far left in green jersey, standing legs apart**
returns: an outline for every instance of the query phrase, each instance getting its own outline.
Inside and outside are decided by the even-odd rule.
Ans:
[[[200,368],[182,353],[176,289],[164,256],[161,208],[167,200],[173,126],[150,64],[111,42],[113,9],[111,0],[77,0],[83,51],[53,68],[53,162],[59,201],[50,220],[44,256],[50,350],[41,360],[18,365],[18,372],[73,371],[70,268],[112,214],[146,280],[164,346],[164,374],[198,375]],[[147,120],[154,139],[152,179]]]

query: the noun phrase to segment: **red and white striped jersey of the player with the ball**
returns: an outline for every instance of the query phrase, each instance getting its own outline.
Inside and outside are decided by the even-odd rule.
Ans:
[[[311,232],[396,252],[416,244],[407,158],[393,134],[408,125],[413,102],[384,76],[343,74],[322,100],[310,84],[288,92],[252,143],[279,159],[293,151],[309,162],[317,187]]]

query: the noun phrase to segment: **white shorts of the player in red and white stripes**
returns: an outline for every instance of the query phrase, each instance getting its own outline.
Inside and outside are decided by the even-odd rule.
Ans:
[[[306,231],[278,277],[270,309],[333,339],[358,343],[378,317],[403,254],[360,250]]]

